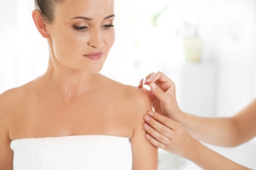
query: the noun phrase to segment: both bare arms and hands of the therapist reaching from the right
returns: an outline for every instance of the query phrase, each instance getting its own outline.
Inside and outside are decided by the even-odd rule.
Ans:
[[[150,86],[150,90],[143,88]],[[144,115],[146,139],[158,148],[194,161],[202,169],[247,169],[207,148],[238,146],[256,136],[256,99],[228,118],[204,118],[183,112],[176,100],[175,84],[161,72],[140,80],[156,109]],[[198,141],[199,140],[199,141]]]

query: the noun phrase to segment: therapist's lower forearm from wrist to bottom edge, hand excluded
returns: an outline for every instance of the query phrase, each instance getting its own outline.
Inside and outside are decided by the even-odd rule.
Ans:
[[[201,143],[198,143],[188,156],[188,160],[193,161],[202,169],[248,169],[234,161],[228,160],[217,152],[207,148]]]

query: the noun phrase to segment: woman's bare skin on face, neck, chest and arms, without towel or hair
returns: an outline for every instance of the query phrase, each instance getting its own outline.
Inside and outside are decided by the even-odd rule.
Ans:
[[[158,169],[157,148],[141,128],[150,99],[98,73],[114,43],[114,1],[66,0],[56,6],[51,24],[39,10],[32,17],[49,43],[49,67],[0,95],[0,169],[12,169],[12,140],[66,135],[127,137],[133,169]],[[94,52],[102,58],[84,56]]]

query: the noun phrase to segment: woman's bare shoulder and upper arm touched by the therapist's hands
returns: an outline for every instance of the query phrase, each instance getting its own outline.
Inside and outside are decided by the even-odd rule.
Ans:
[[[126,121],[133,126],[133,134],[130,137],[133,150],[133,169],[158,169],[158,150],[148,143],[145,131],[143,115],[152,109],[150,99],[146,93],[137,87],[117,84],[120,91],[119,98],[126,110]],[[128,116],[127,116],[128,115]]]

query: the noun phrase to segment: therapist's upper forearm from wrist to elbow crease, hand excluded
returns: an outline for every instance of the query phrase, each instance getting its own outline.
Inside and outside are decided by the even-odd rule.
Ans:
[[[181,112],[174,118],[185,129],[198,139],[218,146],[236,146],[238,130],[232,118],[205,118]]]

